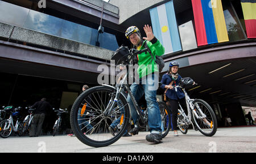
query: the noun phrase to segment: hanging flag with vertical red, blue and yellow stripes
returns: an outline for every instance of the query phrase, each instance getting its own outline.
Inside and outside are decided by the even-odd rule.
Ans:
[[[192,0],[197,45],[229,41],[221,0]]]

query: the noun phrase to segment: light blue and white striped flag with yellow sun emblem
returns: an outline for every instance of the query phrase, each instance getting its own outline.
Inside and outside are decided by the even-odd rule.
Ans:
[[[164,46],[165,54],[181,50],[174,3],[164,3],[150,9],[153,33]]]

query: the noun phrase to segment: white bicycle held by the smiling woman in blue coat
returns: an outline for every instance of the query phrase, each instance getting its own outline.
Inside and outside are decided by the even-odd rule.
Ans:
[[[213,136],[217,131],[216,115],[214,114],[212,107],[210,107],[204,100],[189,98],[188,93],[185,91],[185,87],[192,83],[193,80],[190,77],[185,77],[180,80],[180,85],[174,87],[174,89],[181,88],[181,90],[183,90],[188,109],[188,114],[185,114],[179,103],[177,126],[183,134],[188,132],[188,126],[189,124],[192,124],[193,130],[195,130],[196,126],[203,135]]]

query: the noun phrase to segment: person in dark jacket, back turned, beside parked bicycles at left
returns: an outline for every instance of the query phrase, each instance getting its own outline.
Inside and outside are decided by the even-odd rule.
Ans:
[[[48,110],[52,109],[52,106],[46,101],[46,98],[42,98],[40,101],[32,105],[31,108],[35,109],[35,115],[30,128],[30,137],[38,137],[42,131],[46,113]]]

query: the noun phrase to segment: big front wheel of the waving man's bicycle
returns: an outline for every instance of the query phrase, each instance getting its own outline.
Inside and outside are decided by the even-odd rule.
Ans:
[[[130,111],[123,94],[115,102],[112,113],[104,113],[114,102],[114,91],[106,86],[93,87],[82,92],[73,103],[71,128],[82,143],[93,147],[108,146],[127,130]]]

